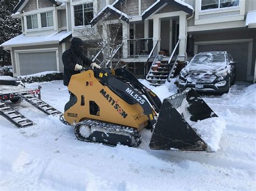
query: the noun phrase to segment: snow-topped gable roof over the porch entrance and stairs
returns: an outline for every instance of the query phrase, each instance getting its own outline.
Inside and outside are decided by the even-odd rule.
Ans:
[[[154,4],[152,4],[142,13],[142,20],[145,20],[147,17],[151,16],[153,13],[157,12],[167,4],[176,6],[180,10],[190,15],[192,15],[192,13],[194,12],[194,9],[190,4],[187,4],[180,0],[157,0]]]

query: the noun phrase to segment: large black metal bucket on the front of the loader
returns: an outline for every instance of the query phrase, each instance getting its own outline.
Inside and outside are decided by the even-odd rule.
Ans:
[[[199,120],[212,117],[218,116],[191,88],[167,97],[149,146],[152,150],[211,151],[193,126],[197,126]]]

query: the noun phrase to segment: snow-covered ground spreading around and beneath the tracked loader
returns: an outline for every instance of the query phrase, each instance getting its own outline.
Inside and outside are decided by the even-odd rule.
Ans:
[[[63,82],[41,86],[42,99],[63,111],[69,100]],[[163,100],[177,91],[169,86],[151,88]],[[37,125],[18,129],[0,116],[0,190],[255,190],[256,84],[247,86],[203,96],[226,122],[215,153],[150,150],[149,130],[138,148],[84,143],[58,118],[26,102],[12,104]]]

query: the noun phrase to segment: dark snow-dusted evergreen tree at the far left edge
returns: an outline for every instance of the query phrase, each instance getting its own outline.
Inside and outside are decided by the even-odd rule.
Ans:
[[[0,0],[0,45],[22,33],[21,20],[11,17],[18,2],[19,0]],[[1,50],[0,47],[0,60]],[[6,51],[2,51],[2,65],[11,65],[11,55]]]

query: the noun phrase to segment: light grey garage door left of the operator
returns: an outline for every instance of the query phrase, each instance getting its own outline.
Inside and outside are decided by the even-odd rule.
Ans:
[[[57,71],[56,51],[19,53],[21,75]]]

